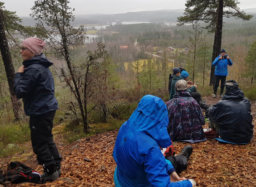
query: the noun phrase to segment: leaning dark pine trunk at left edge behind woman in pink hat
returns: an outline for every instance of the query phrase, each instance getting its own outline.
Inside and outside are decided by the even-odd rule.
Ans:
[[[10,95],[11,95],[14,120],[19,121],[23,115],[23,112],[21,110],[20,99],[18,99],[16,97],[16,95],[14,94],[13,85],[14,85],[14,79],[15,79],[15,70],[14,70],[14,66],[12,63],[12,56],[11,56],[11,53],[9,50],[3,23],[4,23],[3,11],[0,10],[0,51],[1,51],[2,58],[3,58],[4,69],[6,72],[9,91],[10,91]]]

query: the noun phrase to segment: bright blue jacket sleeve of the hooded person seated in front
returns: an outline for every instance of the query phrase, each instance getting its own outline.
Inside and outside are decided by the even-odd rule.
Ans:
[[[153,187],[192,187],[192,183],[188,180],[171,183],[167,174],[168,163],[159,148],[152,147],[144,158],[144,169]]]

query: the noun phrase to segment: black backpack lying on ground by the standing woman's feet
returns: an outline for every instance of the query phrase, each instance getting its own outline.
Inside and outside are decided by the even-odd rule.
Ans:
[[[0,184],[6,184],[8,182],[13,184],[24,182],[36,184],[45,183],[39,173],[21,162],[10,162],[7,167],[7,172],[5,174],[2,173],[2,175],[0,173]]]

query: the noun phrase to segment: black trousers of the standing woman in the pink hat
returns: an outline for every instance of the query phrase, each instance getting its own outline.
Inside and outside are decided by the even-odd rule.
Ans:
[[[29,119],[33,151],[38,163],[43,165],[44,171],[48,174],[54,173],[62,160],[52,136],[55,113],[56,110],[44,116],[30,116]]]

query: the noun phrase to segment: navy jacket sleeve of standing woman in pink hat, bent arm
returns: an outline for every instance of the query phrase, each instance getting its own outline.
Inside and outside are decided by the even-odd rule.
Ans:
[[[18,98],[28,96],[34,90],[40,73],[34,68],[29,68],[24,73],[16,73],[14,79],[14,92]]]

